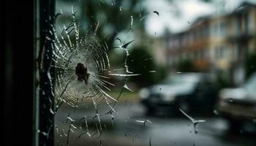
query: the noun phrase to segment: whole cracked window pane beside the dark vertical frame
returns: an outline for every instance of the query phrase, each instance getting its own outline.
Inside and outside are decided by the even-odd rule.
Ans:
[[[54,100],[41,105],[54,145],[255,145],[255,12],[255,1],[56,0]]]

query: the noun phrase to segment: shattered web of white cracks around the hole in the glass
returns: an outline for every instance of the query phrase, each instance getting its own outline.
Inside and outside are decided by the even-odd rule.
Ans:
[[[58,14],[58,17],[61,17],[61,13]],[[54,39],[48,38],[53,42],[51,67],[55,71],[53,85],[56,99],[54,109],[50,109],[50,112],[58,117],[59,109],[63,105],[72,107],[74,110],[74,112],[68,112],[65,123],[62,121],[61,126],[56,124],[56,139],[64,138],[66,139],[65,145],[69,145],[70,134],[77,133],[77,139],[85,135],[89,138],[97,136],[99,144],[102,145],[102,131],[107,127],[102,123],[101,118],[109,115],[113,125],[113,120],[118,115],[116,104],[122,92],[124,90],[132,92],[132,89],[127,85],[127,78],[141,75],[140,73],[129,72],[127,64],[129,44],[135,40],[124,44],[121,39],[117,38],[116,40],[120,42],[120,45],[108,47],[106,42],[100,42],[97,39],[97,35],[80,32],[81,26],[76,19],[76,12],[73,7],[71,18],[72,23],[67,26],[64,25],[62,29],[60,28],[59,34],[56,31],[56,26],[52,26],[50,33],[54,35]],[[129,30],[132,29],[133,23],[132,16],[130,18]],[[94,32],[96,31],[97,28]],[[113,49],[124,51],[126,57],[124,58],[123,69],[111,68],[108,52]],[[111,87],[115,86],[111,83],[111,77],[115,76],[124,77],[124,85],[118,96],[111,96],[108,92],[111,91]],[[108,105],[108,110],[99,111],[100,104]],[[91,106],[94,107],[95,113],[94,115],[87,115],[86,108]],[[73,118],[72,113],[80,109],[84,110],[85,115],[81,118]],[[56,118],[56,123],[59,123],[58,120]],[[66,125],[68,126],[63,127]],[[95,131],[95,129],[97,130]],[[132,134],[132,131],[130,133]],[[59,140],[56,145],[64,145],[64,143],[59,144],[58,142]]]

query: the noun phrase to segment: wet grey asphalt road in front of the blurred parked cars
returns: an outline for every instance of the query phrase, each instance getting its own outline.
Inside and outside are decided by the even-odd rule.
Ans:
[[[99,108],[99,113],[108,111],[108,107]],[[91,124],[89,131],[93,135],[91,138],[87,134],[81,134],[80,123],[74,123],[76,128],[69,131],[69,121],[67,115],[75,120],[83,118],[86,112],[87,116],[95,115],[95,110],[63,109],[56,115],[56,145],[208,145],[208,146],[254,146],[256,145],[256,134],[242,131],[239,133],[230,133],[227,129],[227,122],[221,117],[195,117],[195,119],[206,120],[206,123],[197,125],[198,133],[195,134],[192,122],[185,116],[146,116],[143,106],[138,103],[118,104],[116,110],[118,114],[114,115],[113,123],[110,115],[100,116],[102,125],[102,134],[99,138],[96,124],[88,120]],[[191,115],[193,117],[193,115]],[[96,118],[97,119],[97,118]],[[136,121],[137,120],[137,121]],[[140,120],[150,120],[145,126]],[[86,128],[85,120],[82,122],[83,129]],[[99,124],[97,124],[99,128]],[[68,141],[67,133],[69,131]],[[66,135],[65,135],[66,134]]]

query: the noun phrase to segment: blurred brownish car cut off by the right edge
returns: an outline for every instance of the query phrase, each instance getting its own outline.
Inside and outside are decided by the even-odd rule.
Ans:
[[[222,89],[217,109],[233,130],[241,128],[244,122],[256,123],[256,73],[239,88]]]

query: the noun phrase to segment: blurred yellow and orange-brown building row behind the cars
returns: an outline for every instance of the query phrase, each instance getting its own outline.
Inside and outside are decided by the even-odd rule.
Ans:
[[[189,60],[198,72],[240,85],[246,55],[256,51],[256,6],[243,3],[229,14],[198,18],[187,31],[169,38],[170,69]]]

